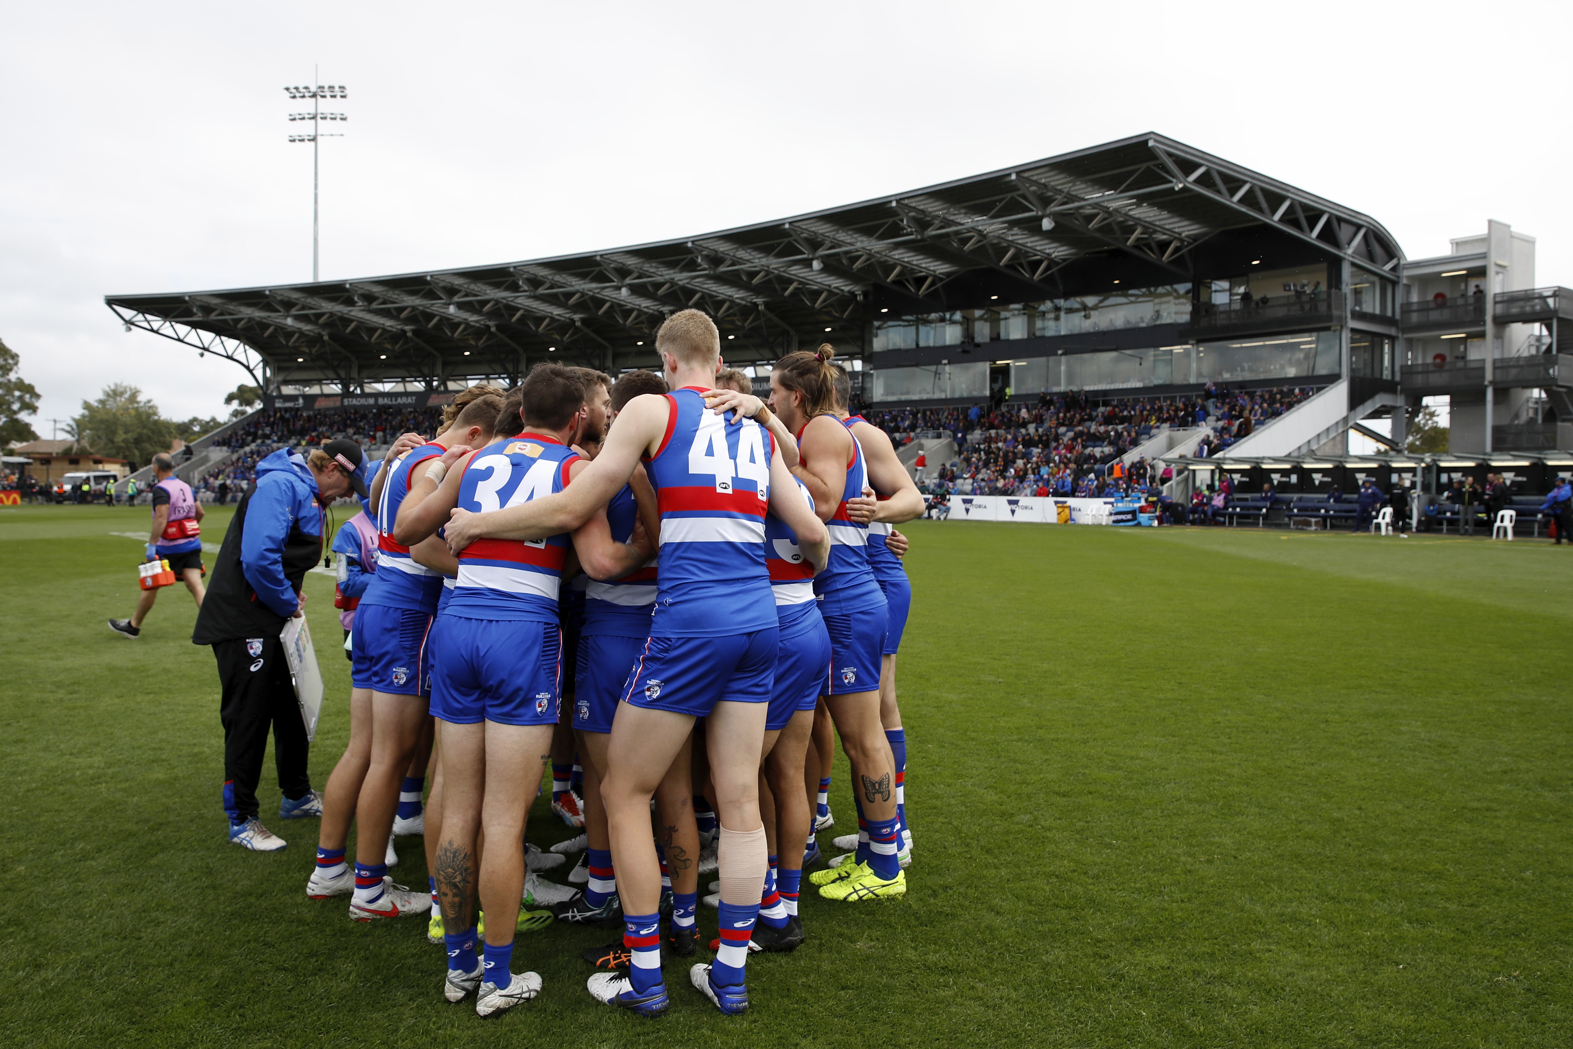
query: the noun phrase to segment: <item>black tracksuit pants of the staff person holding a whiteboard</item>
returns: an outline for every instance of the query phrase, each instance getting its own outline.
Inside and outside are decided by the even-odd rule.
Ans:
[[[230,823],[242,823],[258,815],[256,782],[263,775],[267,753],[267,731],[274,733],[274,764],[278,767],[278,790],[291,801],[311,790],[307,775],[310,744],[289,664],[277,637],[233,639],[214,642],[219,681],[223,698],[219,720],[223,723],[223,808]]]

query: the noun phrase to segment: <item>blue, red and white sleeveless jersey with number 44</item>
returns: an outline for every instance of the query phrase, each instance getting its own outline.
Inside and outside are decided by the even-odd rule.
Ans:
[[[774,439],[705,407],[697,387],[667,393],[667,436],[645,472],[661,510],[653,637],[724,637],[775,628],[764,568]]]

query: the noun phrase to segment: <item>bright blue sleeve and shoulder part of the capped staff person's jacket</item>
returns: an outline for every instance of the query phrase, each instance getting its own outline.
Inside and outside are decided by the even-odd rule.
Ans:
[[[280,448],[256,464],[256,491],[245,508],[241,538],[241,571],[258,601],[275,615],[294,615],[299,598],[285,577],[285,543],[299,530],[322,543],[322,514],[316,505],[316,478],[293,448]]]

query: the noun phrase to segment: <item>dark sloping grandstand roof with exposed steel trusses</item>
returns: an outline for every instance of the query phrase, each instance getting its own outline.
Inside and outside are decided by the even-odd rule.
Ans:
[[[1222,277],[1263,245],[1394,269],[1356,211],[1156,134],[805,215],[584,255],[307,285],[105,296],[127,327],[223,355],[266,388],[518,377],[546,354],[653,363],[662,318],[711,313],[724,351],[864,346],[920,313]]]

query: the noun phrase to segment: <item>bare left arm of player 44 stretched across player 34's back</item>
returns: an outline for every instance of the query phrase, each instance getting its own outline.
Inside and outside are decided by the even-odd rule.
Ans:
[[[483,514],[455,511],[448,519],[448,547],[462,550],[475,539],[521,539],[533,543],[547,536],[574,532],[590,516],[612,502],[617,489],[639,466],[640,456],[654,453],[667,432],[670,401],[654,393],[645,393],[629,401],[606,434],[601,453],[573,483],[555,495],[532,499],[518,506],[503,506]]]

